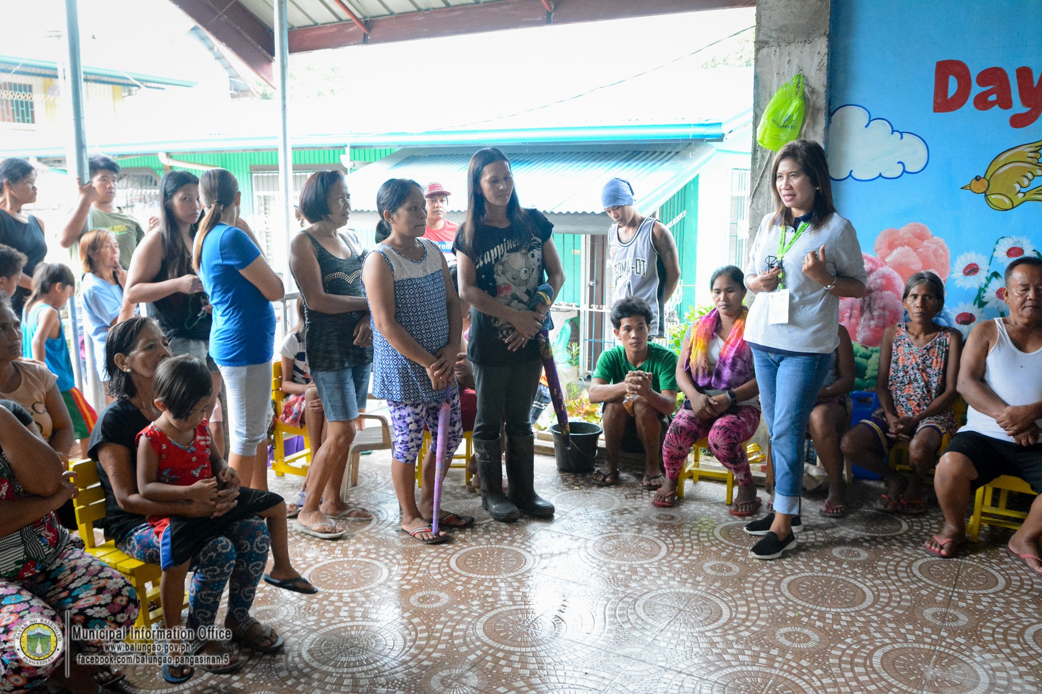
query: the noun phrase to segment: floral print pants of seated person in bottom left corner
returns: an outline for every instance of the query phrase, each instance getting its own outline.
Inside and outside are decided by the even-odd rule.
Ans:
[[[138,593],[123,574],[71,546],[47,571],[25,581],[0,581],[0,692],[46,691],[51,672],[65,667],[60,658],[43,668],[22,662],[14,638],[24,620],[43,617],[64,625],[68,610],[72,623],[84,628],[122,628],[133,625],[139,607]],[[75,647],[81,653],[101,650],[91,641],[77,641]]]

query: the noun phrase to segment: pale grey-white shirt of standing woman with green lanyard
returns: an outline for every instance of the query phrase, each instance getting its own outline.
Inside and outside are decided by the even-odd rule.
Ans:
[[[772,224],[774,212],[764,216],[756,240],[745,268],[746,283],[750,275],[767,269],[767,256],[776,256],[782,227]],[[795,230],[786,227],[787,238]],[[808,229],[785,254],[785,282],[789,289],[789,323],[768,323],[767,292],[756,300],[745,319],[745,340],[764,348],[808,354],[829,354],[839,346],[840,299],[803,275],[803,258],[811,251],[825,247],[825,265],[835,277],[848,277],[866,282],[865,261],[861,255],[858,233],[847,220],[833,213],[818,229]],[[763,294],[763,295],[761,295]]]

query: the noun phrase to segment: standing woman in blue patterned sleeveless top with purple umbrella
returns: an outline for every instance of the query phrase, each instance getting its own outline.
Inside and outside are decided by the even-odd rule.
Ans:
[[[423,470],[420,507],[415,466],[424,429],[430,431],[431,448],[438,440],[438,414],[446,399],[452,408],[446,454],[463,440],[460,392],[452,375],[463,319],[445,257],[437,243],[420,238],[427,229],[425,205],[416,181],[393,178],[380,186],[377,234],[387,238],[369,254],[362,279],[373,316],[372,390],[387,400],[394,427],[391,479],[401,507],[401,530],[424,544],[436,544],[448,535],[435,535],[425,518],[430,511],[420,511],[433,507],[436,466]],[[465,526],[474,519],[446,513],[441,522]]]

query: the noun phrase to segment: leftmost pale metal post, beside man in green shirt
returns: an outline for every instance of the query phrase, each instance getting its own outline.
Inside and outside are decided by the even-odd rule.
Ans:
[[[83,119],[83,65],[80,60],[79,50],[79,7],[77,0],[65,0],[65,6],[66,45],[69,49],[69,65],[64,86],[69,98],[72,121],[72,138],[66,158],[68,159],[69,170],[75,171],[79,180],[85,182],[90,176],[86,165],[86,131]],[[105,404],[105,396],[101,392],[101,384],[98,382],[98,371],[94,366],[96,355],[94,355],[94,351],[91,349],[91,338],[90,335],[85,334],[85,331],[83,331],[82,335],[86,343],[86,368],[80,368],[79,338],[83,322],[80,319],[79,307],[74,299],[69,301],[69,316],[73,326],[73,352],[76,355],[76,359],[73,360],[76,385],[83,391],[83,394],[95,409],[100,410]]]

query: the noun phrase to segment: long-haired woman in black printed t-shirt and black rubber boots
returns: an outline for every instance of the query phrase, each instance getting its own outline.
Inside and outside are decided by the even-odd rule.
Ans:
[[[540,498],[532,485],[535,439],[528,415],[542,371],[532,338],[550,307],[529,306],[542,285],[549,285],[552,301],[565,283],[550,238],[553,225],[542,212],[521,208],[511,162],[494,147],[471,157],[467,198],[467,220],[453,249],[460,295],[472,306],[467,353],[477,390],[473,440],[481,506],[496,520],[516,520],[521,513],[549,517],[553,505]],[[499,451],[504,418],[508,498],[502,493]]]

